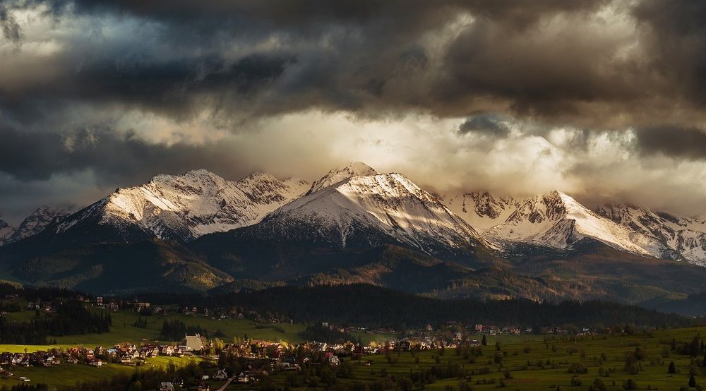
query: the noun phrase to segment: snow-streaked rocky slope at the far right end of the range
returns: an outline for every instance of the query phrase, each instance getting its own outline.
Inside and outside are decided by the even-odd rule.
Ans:
[[[654,236],[684,259],[706,266],[706,217],[679,217],[634,205],[599,207],[596,212],[618,224]]]

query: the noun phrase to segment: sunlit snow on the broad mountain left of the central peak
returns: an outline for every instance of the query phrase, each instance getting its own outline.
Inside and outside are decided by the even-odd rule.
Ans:
[[[148,184],[117,189],[59,224],[57,232],[81,222],[116,228],[124,239],[154,235],[189,241],[203,234],[245,227],[306,191],[304,181],[280,181],[254,173],[227,181],[204,169],[160,174]]]

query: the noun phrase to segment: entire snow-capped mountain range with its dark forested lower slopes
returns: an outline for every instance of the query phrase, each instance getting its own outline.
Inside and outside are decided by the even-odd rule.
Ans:
[[[706,217],[566,193],[436,195],[356,162],[309,184],[200,169],[67,214],[0,221],[0,275],[100,293],[367,282],[444,298],[686,298],[706,278]]]

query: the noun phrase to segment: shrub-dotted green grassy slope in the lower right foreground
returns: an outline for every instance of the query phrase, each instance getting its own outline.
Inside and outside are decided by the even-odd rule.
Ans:
[[[339,383],[362,381],[365,383],[388,378],[410,377],[411,373],[420,372],[432,366],[447,363],[462,365],[470,374],[468,378],[446,378],[437,380],[436,383],[427,384],[427,390],[448,390],[453,387],[459,390],[460,384],[465,383],[473,390],[491,390],[504,387],[509,390],[587,390],[594,379],[601,378],[608,390],[623,390],[623,381],[633,379],[638,383],[640,390],[678,390],[687,386],[690,369],[695,371],[697,383],[706,386],[706,368],[692,366],[689,356],[670,352],[663,356],[664,347],[669,347],[671,338],[677,341],[690,341],[697,333],[706,337],[706,327],[688,328],[679,330],[666,330],[652,332],[649,335],[631,335],[616,337],[581,337],[575,342],[563,340],[534,340],[526,342],[501,343],[501,351],[506,352],[501,363],[496,363],[494,355],[496,348],[493,344],[483,347],[483,356],[477,357],[475,363],[457,355],[455,350],[446,349],[441,355],[439,351],[422,351],[416,354],[405,352],[393,354],[393,362],[383,355],[364,356],[363,361],[373,361],[371,366],[352,361],[354,378],[338,378]],[[642,370],[638,374],[630,374],[624,369],[626,354],[635,351],[640,346],[647,352],[647,359],[640,363]],[[554,348],[553,348],[554,347]],[[703,359],[703,352],[698,359]],[[603,359],[601,357],[604,357]],[[349,360],[349,359],[346,359]],[[438,361],[437,361],[438,360]],[[547,364],[549,360],[549,364]],[[677,373],[669,375],[667,369],[670,361],[676,364]],[[537,363],[544,363],[544,368]],[[588,373],[568,373],[571,363],[580,363],[588,369]],[[609,373],[600,376],[599,368]],[[487,372],[487,373],[486,373]],[[383,375],[385,374],[386,375]],[[507,374],[507,376],[506,376]],[[571,379],[580,380],[580,387],[573,387]],[[286,375],[279,374],[273,377],[275,385],[285,386]],[[501,380],[502,379],[502,380]],[[323,386],[323,385],[322,385]],[[233,389],[246,389],[243,386],[233,386]],[[303,390],[304,387],[293,387]],[[311,389],[311,387],[309,387]],[[695,390],[691,388],[690,390]]]

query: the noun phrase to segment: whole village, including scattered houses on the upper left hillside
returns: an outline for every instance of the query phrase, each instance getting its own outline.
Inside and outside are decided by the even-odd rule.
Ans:
[[[6,299],[13,299],[6,297]],[[133,327],[140,327],[141,321],[152,315],[165,317],[170,313],[199,320],[251,320],[256,327],[272,327],[277,330],[283,324],[294,323],[293,319],[277,316],[267,317],[255,311],[243,308],[196,308],[195,306],[152,306],[148,301],[105,299],[102,296],[78,296],[78,301],[93,311],[109,313],[136,313],[138,320]],[[26,304],[25,311],[50,315],[54,313],[51,301],[39,299]],[[7,315],[7,312],[0,315]],[[314,334],[306,342],[292,344],[282,339],[237,338],[229,336],[233,342],[222,339],[228,336],[208,338],[199,333],[185,333],[180,342],[164,343],[159,340],[142,339],[140,342],[118,342],[112,346],[76,345],[73,347],[51,347],[38,351],[0,351],[0,378],[13,378],[22,382],[31,382],[27,376],[16,375],[16,368],[47,368],[61,365],[80,365],[102,368],[106,365],[145,366],[150,359],[157,357],[194,359],[210,363],[210,372],[198,379],[198,390],[210,390],[209,380],[227,380],[228,383],[257,383],[266,376],[279,372],[299,372],[302,366],[340,365],[343,357],[357,358],[363,365],[372,361],[364,356],[384,355],[393,352],[426,351],[434,349],[455,349],[457,347],[479,347],[488,344],[488,339],[503,336],[544,335],[590,335],[595,330],[567,330],[545,328],[542,330],[522,329],[515,325],[464,325],[447,322],[433,326],[427,324],[416,329],[395,330],[385,327],[362,327],[355,325],[336,325],[321,322],[310,325]],[[309,330],[309,329],[307,329]],[[362,342],[361,335],[371,335],[369,342]],[[354,337],[357,336],[357,337]],[[176,339],[177,337],[175,337]],[[325,342],[328,341],[328,342]],[[239,371],[219,366],[225,357],[237,359],[243,363]],[[184,361],[181,361],[184,362]],[[161,390],[174,390],[175,385],[183,385],[184,379],[165,381]],[[193,381],[193,379],[191,379]]]

